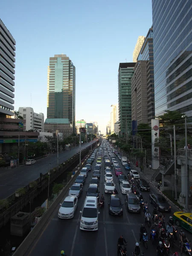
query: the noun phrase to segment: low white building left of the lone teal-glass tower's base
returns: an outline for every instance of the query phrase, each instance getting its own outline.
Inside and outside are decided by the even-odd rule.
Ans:
[[[26,120],[26,131],[44,131],[44,114],[35,113],[33,108],[30,107],[20,107],[19,108],[20,116]]]

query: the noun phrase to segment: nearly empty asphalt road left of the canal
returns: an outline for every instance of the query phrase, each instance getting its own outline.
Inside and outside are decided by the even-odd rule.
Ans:
[[[91,145],[82,144],[81,150]],[[79,146],[59,153],[59,164],[63,163],[74,154],[79,152]],[[0,199],[7,198],[12,195],[18,188],[26,186],[29,182],[36,180],[40,176],[40,172],[43,174],[49,171],[50,168],[57,166],[57,154],[53,154],[49,157],[39,159],[32,166],[19,166],[16,169],[6,170],[0,169]]]

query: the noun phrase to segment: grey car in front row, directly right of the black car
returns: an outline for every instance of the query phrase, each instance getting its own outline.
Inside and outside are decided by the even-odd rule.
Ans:
[[[128,212],[139,213],[141,211],[140,202],[134,193],[127,193],[125,195],[125,207]]]

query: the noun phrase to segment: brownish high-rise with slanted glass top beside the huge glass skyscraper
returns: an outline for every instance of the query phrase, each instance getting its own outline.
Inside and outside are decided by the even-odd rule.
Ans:
[[[150,28],[134,67],[131,80],[132,121],[148,123],[155,118],[153,28]]]

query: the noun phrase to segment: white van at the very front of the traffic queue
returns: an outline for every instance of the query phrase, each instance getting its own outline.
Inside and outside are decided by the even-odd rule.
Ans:
[[[80,230],[98,230],[98,206],[97,198],[87,196],[85,198],[83,210],[81,212]]]

